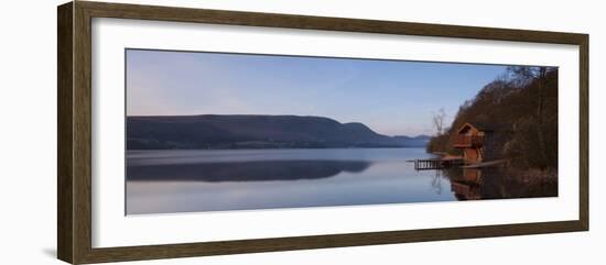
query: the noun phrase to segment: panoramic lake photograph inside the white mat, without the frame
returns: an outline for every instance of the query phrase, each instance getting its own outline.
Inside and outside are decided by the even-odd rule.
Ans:
[[[127,214],[558,196],[556,67],[128,48],[126,96]]]

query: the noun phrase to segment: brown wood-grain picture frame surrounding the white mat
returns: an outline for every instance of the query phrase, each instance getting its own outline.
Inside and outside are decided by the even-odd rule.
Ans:
[[[290,14],[75,1],[57,9],[57,256],[73,263],[224,255],[588,230],[588,35]],[[578,220],[184,244],[91,246],[91,19],[119,18],[498,40],[580,47]]]

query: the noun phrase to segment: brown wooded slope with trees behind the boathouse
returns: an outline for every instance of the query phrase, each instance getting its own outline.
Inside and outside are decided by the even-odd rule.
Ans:
[[[436,134],[429,152],[459,154],[453,136],[465,122],[490,123],[498,130],[493,152],[520,168],[558,168],[558,68],[511,66],[458,109],[450,128],[444,112],[434,113]]]

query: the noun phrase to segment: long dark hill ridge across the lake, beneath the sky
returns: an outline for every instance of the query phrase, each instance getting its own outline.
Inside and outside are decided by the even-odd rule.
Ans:
[[[323,117],[128,117],[128,150],[422,147],[416,139],[378,134],[362,123]]]

